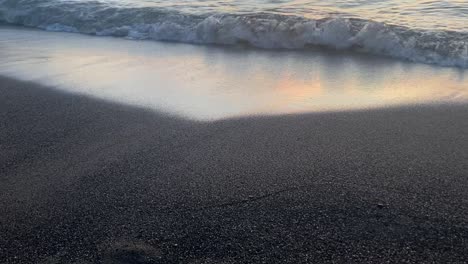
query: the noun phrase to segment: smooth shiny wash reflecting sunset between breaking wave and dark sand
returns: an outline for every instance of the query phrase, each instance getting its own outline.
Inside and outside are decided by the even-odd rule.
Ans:
[[[465,103],[467,70],[0,27],[0,74],[196,120]]]

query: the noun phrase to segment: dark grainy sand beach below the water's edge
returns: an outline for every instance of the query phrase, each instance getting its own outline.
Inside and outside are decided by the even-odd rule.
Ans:
[[[0,79],[0,263],[468,261],[468,106],[192,122]]]

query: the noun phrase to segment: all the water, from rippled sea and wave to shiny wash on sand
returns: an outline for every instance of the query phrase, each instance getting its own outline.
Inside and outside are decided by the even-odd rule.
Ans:
[[[191,119],[468,102],[465,0],[0,0],[0,23],[0,74]]]

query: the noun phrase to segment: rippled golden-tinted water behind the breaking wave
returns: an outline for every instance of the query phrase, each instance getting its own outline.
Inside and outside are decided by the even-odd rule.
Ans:
[[[91,2],[81,0],[80,2]],[[95,2],[95,0],[93,0]],[[465,0],[107,0],[111,6],[156,7],[191,14],[272,13],[320,19],[360,18],[400,26],[467,30]]]

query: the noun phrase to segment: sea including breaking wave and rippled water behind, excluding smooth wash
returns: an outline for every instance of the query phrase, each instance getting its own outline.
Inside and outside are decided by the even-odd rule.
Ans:
[[[133,40],[326,47],[468,68],[466,0],[0,0],[0,22]]]

